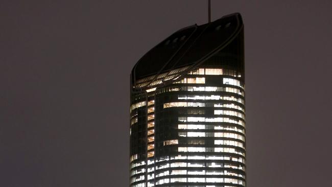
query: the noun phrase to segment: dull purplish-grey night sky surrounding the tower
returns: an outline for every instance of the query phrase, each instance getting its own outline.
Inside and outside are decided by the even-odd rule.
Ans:
[[[0,3],[0,186],[129,184],[129,74],[206,1]],[[247,186],[332,186],[332,1],[217,1],[245,24]]]

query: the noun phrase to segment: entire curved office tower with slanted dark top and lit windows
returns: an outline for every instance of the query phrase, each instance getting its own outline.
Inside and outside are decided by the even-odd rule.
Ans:
[[[130,186],[245,186],[244,26],[181,29],[134,66]]]

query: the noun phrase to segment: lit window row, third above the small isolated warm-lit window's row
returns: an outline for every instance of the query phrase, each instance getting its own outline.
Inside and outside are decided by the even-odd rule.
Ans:
[[[245,126],[245,122],[243,120],[235,120],[231,118],[205,118],[205,117],[178,117],[179,122],[226,122],[238,124],[241,126]]]

